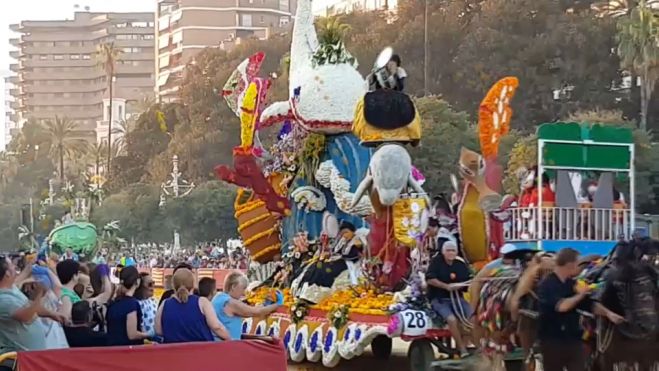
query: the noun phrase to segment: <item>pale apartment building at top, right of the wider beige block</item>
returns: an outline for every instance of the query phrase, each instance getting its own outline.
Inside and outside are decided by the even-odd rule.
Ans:
[[[185,66],[206,47],[229,49],[241,39],[267,39],[288,28],[297,0],[159,0],[156,93],[176,99]]]

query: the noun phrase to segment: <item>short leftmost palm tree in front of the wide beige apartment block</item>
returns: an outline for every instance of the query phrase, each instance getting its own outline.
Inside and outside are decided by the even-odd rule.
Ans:
[[[82,152],[84,141],[76,138],[78,124],[67,119],[55,116],[44,124],[44,130],[50,138],[49,155],[59,162],[60,180],[64,180],[64,157],[73,158]]]

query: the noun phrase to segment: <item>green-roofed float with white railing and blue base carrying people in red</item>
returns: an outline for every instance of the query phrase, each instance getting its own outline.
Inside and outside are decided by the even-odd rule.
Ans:
[[[519,172],[523,188],[510,207],[507,242],[583,255],[608,255],[635,230],[634,140],[627,127],[547,123],[537,129],[536,158]],[[526,182],[525,179],[530,181]]]

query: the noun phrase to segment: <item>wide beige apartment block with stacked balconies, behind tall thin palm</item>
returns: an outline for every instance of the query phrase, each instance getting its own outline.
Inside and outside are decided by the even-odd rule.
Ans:
[[[113,122],[127,118],[133,104],[153,96],[155,19],[153,13],[76,12],[71,20],[23,21],[10,29],[17,50],[10,56],[15,75],[10,106],[12,122],[66,117],[78,123],[80,137],[102,139],[109,102],[105,72],[97,65],[99,45],[119,49],[113,98]],[[103,128],[104,127],[104,128]]]

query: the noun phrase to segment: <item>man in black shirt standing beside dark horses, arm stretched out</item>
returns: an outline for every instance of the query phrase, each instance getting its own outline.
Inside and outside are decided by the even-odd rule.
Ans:
[[[585,370],[586,358],[582,344],[583,330],[579,323],[581,311],[605,316],[613,323],[623,318],[595,303],[589,297],[587,285],[577,285],[575,277],[581,272],[579,252],[561,249],[556,255],[556,268],[538,288],[540,340],[545,371]]]

